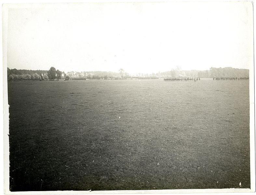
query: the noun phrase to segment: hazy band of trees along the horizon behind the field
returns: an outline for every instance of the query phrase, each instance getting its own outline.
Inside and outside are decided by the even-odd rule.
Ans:
[[[91,72],[62,72],[51,67],[46,70],[17,70],[7,68],[7,78],[10,81],[23,80],[86,80],[86,79],[159,79],[159,78],[182,78],[182,77],[249,77],[248,69],[237,69],[232,67],[213,68],[205,71],[183,71],[177,67],[171,71],[157,72],[151,74],[137,73],[129,75],[123,69],[118,72],[91,71]]]

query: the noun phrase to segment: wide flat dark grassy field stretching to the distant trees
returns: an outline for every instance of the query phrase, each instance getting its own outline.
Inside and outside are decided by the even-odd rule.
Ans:
[[[8,101],[11,191],[250,188],[249,81],[9,82]]]

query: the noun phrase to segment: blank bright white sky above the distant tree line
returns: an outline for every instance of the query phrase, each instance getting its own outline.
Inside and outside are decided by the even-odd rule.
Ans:
[[[9,68],[152,73],[253,63],[251,2],[10,7]]]

